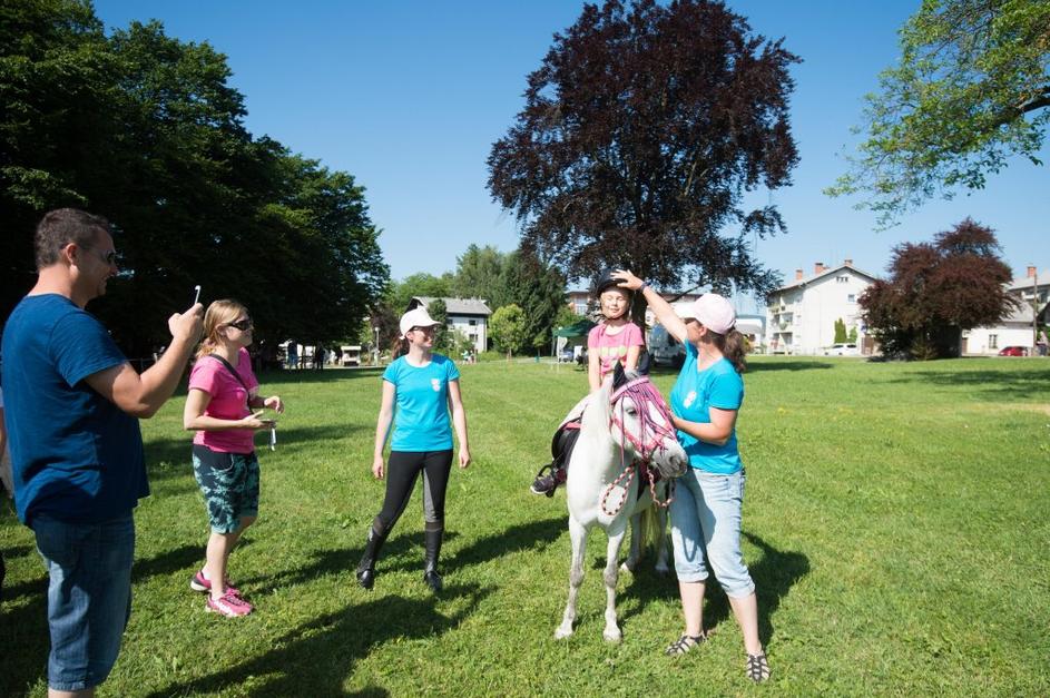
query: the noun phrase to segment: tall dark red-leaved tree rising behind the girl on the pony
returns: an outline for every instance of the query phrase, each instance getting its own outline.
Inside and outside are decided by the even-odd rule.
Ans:
[[[765,292],[778,278],[749,240],[786,227],[772,204],[745,210],[744,194],[791,183],[797,60],[718,2],[587,4],[529,76],[489,189],[522,246],[570,278],[624,266]]]

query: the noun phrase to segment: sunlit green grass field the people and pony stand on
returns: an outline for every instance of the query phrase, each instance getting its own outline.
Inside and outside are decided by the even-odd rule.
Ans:
[[[606,643],[600,531],[577,635],[553,639],[565,494],[527,488],[586,379],[534,363],[461,371],[474,463],[450,483],[438,598],[421,579],[419,492],[375,589],[354,581],[382,498],[374,371],[261,376],[288,409],[277,451],[259,451],[259,522],[232,558],[257,608],[244,619],[206,613],[188,589],[207,521],[183,399],[144,422],[153,495],[137,511],[134,612],[99,695],[1050,695],[1050,361],[752,362],[738,434],[774,671],[763,687],[744,677],[720,590],[705,609],[713,641],[661,655],[681,625],[675,581],[650,560],[621,574],[624,641]],[[674,375],[656,380],[666,394]],[[46,576],[2,509],[0,696],[42,696]]]

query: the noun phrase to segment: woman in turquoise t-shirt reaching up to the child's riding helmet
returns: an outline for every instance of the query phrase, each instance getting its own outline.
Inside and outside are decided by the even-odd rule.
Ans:
[[[744,402],[740,373],[745,364],[736,313],[728,301],[708,293],[685,317],[678,317],[670,304],[630,272],[615,276],[625,287],[641,289],[656,318],[686,346],[686,361],[670,393],[678,441],[691,466],[678,480],[670,507],[686,628],[666,653],[684,655],[707,639],[703,612],[709,564],[744,635],[747,676],[765,681],[769,662],[758,639],[755,583],[740,552],[744,466],[736,445],[736,415]]]

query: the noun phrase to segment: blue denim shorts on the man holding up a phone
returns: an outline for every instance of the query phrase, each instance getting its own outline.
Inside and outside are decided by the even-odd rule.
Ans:
[[[50,576],[48,686],[66,691],[98,686],[117,661],[131,613],[131,512],[101,523],[37,514],[32,530]]]

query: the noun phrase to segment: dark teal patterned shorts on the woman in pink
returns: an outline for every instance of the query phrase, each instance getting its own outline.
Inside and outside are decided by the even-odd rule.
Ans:
[[[258,459],[252,453],[220,453],[194,444],[194,476],[215,533],[234,533],[242,517],[258,513]]]

